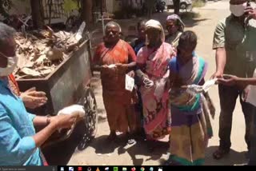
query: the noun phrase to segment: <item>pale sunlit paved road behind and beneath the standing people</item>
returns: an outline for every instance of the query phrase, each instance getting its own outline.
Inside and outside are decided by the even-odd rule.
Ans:
[[[208,2],[201,9],[194,9],[201,16],[193,18],[193,20],[185,20],[186,30],[194,30],[198,34],[197,53],[206,59],[209,63],[209,70],[206,79],[214,73],[215,61],[214,50],[211,49],[214,28],[218,21],[230,14],[229,3],[227,1]],[[154,18],[165,21],[168,13],[155,14]],[[138,18],[137,18],[138,20]],[[130,20],[120,22],[123,28],[132,23]],[[126,31],[124,31],[126,33]],[[98,135],[90,145],[79,151],[76,149],[71,157],[68,165],[160,165],[166,160],[168,145],[166,140],[158,143],[158,149],[150,153],[146,148],[145,143],[138,142],[133,146],[125,146],[124,142],[118,144],[106,143],[106,137],[110,133],[106,122],[106,113],[102,103],[102,87],[99,83],[98,74],[94,78],[95,93],[98,101],[99,125]],[[240,105],[237,106],[234,112],[233,131],[231,136],[232,150],[230,155],[221,161],[212,159],[212,152],[218,146],[218,116],[219,116],[219,101],[218,89],[210,89],[210,95],[214,99],[217,113],[213,121],[214,137],[210,140],[209,147],[206,150],[206,165],[242,165],[246,163],[246,143],[243,139],[245,133],[244,118]]]

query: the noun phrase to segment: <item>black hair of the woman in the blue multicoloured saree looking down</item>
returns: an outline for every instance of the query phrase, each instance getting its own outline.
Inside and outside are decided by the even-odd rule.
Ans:
[[[190,46],[193,50],[198,44],[198,37],[193,31],[185,31],[179,38],[179,48]]]

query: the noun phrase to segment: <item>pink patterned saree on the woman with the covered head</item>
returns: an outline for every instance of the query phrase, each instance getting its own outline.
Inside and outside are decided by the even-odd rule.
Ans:
[[[147,46],[138,52],[137,63],[144,65],[143,72],[154,82],[154,87],[140,87],[143,105],[143,128],[148,139],[160,139],[170,134],[170,105],[168,63],[173,57],[172,46],[162,43],[157,50]]]

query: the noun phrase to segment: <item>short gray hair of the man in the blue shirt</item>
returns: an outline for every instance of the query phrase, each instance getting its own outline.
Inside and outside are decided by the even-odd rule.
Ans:
[[[14,28],[0,22],[0,48],[6,44],[7,39],[14,38],[15,33]]]

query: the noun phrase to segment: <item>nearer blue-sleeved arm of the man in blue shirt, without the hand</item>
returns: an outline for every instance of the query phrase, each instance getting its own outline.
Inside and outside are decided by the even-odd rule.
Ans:
[[[20,137],[3,108],[0,109],[0,123],[0,157],[11,158],[16,165],[25,163],[34,150],[42,145],[42,142],[50,137],[50,134],[57,128],[56,123],[51,123],[34,136]]]

